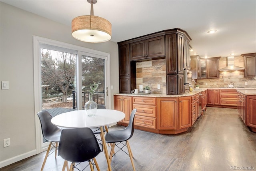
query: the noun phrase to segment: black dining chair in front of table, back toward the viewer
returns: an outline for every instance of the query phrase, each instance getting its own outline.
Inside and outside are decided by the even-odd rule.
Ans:
[[[58,155],[65,160],[62,170],[65,166],[68,167],[68,161],[71,162],[70,171],[77,168],[76,163],[88,161],[91,171],[94,170],[93,165],[96,165],[99,171],[100,168],[95,157],[102,152],[102,149],[102,144],[98,143],[92,129],[87,127],[63,129],[58,149]],[[95,164],[92,163],[91,159]]]

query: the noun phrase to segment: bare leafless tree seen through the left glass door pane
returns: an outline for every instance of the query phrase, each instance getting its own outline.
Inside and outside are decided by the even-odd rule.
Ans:
[[[66,52],[54,54],[52,56],[51,50],[41,50],[42,84],[51,85],[56,91],[60,89],[62,102],[67,102],[68,90],[76,73],[76,55]]]

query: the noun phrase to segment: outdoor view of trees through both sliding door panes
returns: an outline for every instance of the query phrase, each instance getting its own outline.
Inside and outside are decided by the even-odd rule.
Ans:
[[[94,101],[98,104],[105,103],[104,62],[104,59],[82,56],[83,104],[88,101],[90,84],[93,82],[101,83],[93,97]],[[76,54],[41,48],[41,82],[44,109],[76,106],[72,103],[72,91],[76,90]],[[74,95],[76,103],[77,94]]]

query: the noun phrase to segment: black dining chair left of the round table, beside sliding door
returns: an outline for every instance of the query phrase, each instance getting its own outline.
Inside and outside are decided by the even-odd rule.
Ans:
[[[54,153],[54,151],[55,158],[57,156],[58,142],[60,141],[60,134],[62,129],[58,128],[57,126],[51,123],[52,116],[50,115],[50,113],[48,113],[48,111],[40,111],[37,113],[37,115],[41,123],[43,137],[44,139],[46,139],[46,141],[50,141],[41,167],[42,171],[44,169],[47,157]]]

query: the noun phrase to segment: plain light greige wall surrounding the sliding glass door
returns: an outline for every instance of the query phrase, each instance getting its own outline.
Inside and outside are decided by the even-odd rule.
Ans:
[[[0,2],[0,24],[0,80],[9,81],[9,89],[0,90],[0,167],[4,167],[36,151],[33,35],[109,53],[111,85],[114,85],[112,109],[113,93],[119,92],[119,77],[115,42],[80,42],[71,36],[71,26],[3,2]],[[4,148],[6,138],[10,138],[11,146]]]

